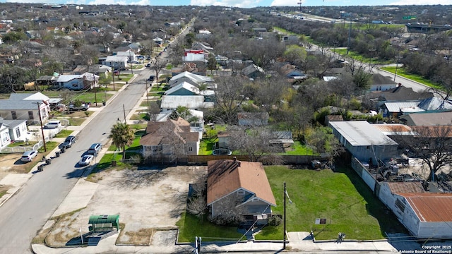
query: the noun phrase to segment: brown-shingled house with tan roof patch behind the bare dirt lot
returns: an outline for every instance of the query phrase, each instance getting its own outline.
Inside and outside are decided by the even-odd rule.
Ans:
[[[190,123],[176,120],[150,121],[140,140],[143,157],[153,162],[177,162],[186,155],[198,155],[199,135],[190,131]]]

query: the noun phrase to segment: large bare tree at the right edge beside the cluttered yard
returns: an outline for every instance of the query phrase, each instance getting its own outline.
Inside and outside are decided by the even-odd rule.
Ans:
[[[435,174],[452,163],[452,125],[413,126],[414,135],[398,135],[396,140],[413,157],[422,159],[429,168],[429,181],[435,181]]]

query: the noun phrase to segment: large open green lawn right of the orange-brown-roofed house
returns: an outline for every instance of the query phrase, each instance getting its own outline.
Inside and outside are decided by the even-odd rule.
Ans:
[[[314,231],[317,239],[335,239],[339,232],[347,239],[381,239],[385,232],[405,232],[397,219],[384,209],[383,203],[352,169],[321,171],[266,167],[266,174],[275,195],[273,212],[283,214],[283,182],[287,183],[287,231]],[[316,225],[316,218],[327,223]],[[267,226],[258,239],[282,239],[283,226]]]

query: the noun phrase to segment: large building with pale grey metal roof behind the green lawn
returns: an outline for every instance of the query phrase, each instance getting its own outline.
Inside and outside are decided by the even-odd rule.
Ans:
[[[353,157],[361,162],[381,161],[398,157],[398,143],[367,121],[330,121],[333,135]]]

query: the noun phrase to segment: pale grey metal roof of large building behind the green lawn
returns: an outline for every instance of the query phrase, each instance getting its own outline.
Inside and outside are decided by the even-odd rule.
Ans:
[[[332,121],[329,124],[353,146],[397,145],[367,121]]]

